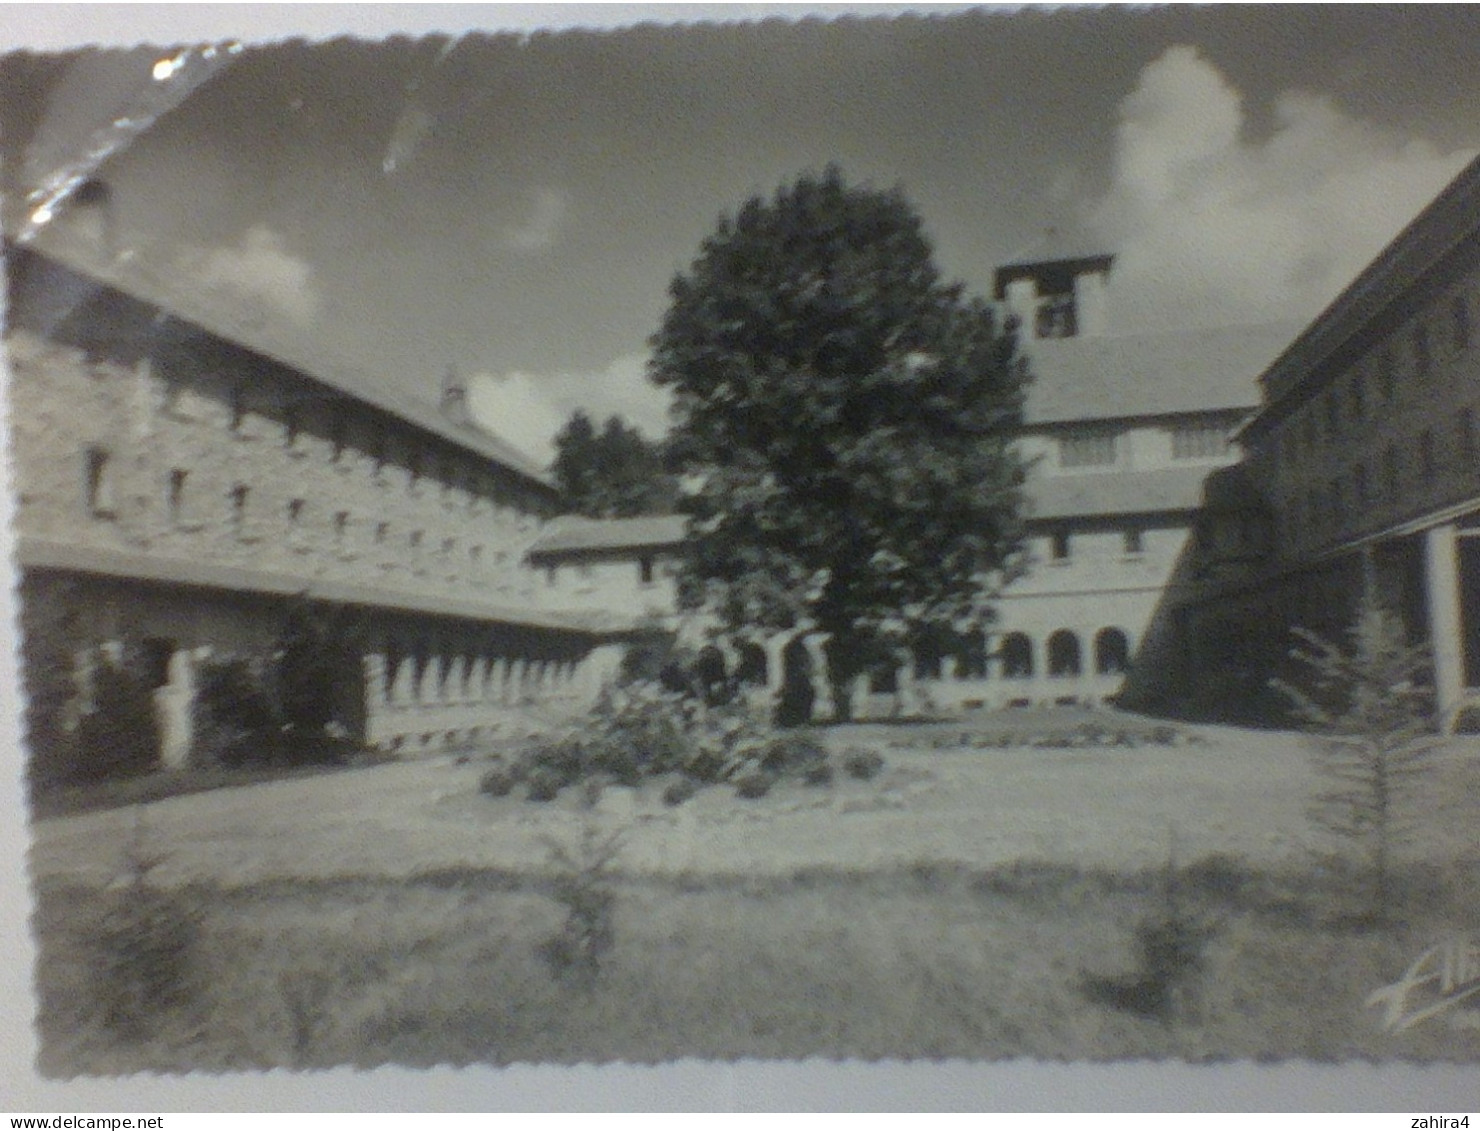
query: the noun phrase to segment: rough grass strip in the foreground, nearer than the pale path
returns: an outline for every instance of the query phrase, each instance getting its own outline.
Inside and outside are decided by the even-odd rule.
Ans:
[[[1476,906],[1473,866],[1415,873],[1407,887],[1424,897],[1409,921],[1365,930],[1329,918],[1341,876],[1246,870],[1230,885],[1230,870],[1183,873],[1188,906],[1220,930],[1196,1018],[1172,1024],[1083,989],[1086,971],[1134,965],[1138,925],[1159,907],[1154,870],[616,876],[619,942],[579,986],[542,956],[562,930],[555,873],[195,884],[179,896],[203,918],[201,990],[142,1039],[75,992],[105,893],[52,884],[36,919],[41,1067],[1480,1056],[1473,1029],[1388,1035],[1363,1004]]]

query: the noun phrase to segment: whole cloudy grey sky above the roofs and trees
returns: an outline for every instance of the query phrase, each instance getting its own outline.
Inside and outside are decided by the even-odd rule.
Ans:
[[[244,9],[12,21],[4,46],[47,56],[0,65],[7,204],[107,154],[120,247],[374,382],[435,395],[456,367],[480,415],[545,459],[576,407],[663,428],[642,373],[673,272],[721,213],[829,161],[900,185],[978,292],[1048,229],[1114,252],[1134,332],[1313,315],[1480,151],[1476,6],[531,34],[551,18],[534,12],[519,33],[426,34],[488,12],[379,9],[358,38],[266,43],[234,25]],[[366,18],[278,16],[314,37]],[[161,50],[59,53],[241,33],[246,50],[164,78]]]

